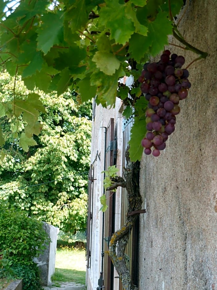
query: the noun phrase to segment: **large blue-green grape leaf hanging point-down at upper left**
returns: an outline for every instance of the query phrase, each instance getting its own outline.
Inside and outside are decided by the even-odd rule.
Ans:
[[[42,26],[36,31],[38,32],[38,49],[44,54],[49,52],[54,44],[60,42],[60,32],[63,28],[63,11],[58,10],[56,13],[46,13],[42,16]]]

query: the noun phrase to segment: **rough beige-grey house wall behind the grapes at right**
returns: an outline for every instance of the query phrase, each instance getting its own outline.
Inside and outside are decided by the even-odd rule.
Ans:
[[[209,56],[189,68],[192,86],[166,149],[141,162],[140,290],[217,289],[217,1],[190,1],[179,29]],[[197,57],[168,48],[186,64]]]

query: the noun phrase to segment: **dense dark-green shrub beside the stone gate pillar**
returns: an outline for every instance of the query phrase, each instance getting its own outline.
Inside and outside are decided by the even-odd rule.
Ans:
[[[33,258],[49,241],[42,225],[21,211],[0,207],[0,276],[22,278],[23,290],[41,289]]]

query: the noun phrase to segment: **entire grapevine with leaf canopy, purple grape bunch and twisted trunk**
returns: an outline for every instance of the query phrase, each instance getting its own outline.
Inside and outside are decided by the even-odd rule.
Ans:
[[[120,98],[126,105],[123,116],[134,116],[126,156],[131,170],[126,171],[123,183],[128,197],[135,201],[124,227],[129,233],[135,218],[144,212],[137,180],[139,160],[143,151],[159,156],[166,147],[175,130],[179,102],[191,87],[190,70],[184,67],[184,57],[176,54],[176,47],[198,55],[191,64],[207,57],[207,52],[189,44],[178,29],[189,2],[0,0],[0,65],[14,77],[11,94],[0,99],[1,162],[8,153],[8,136],[13,135],[12,145],[26,153],[29,146],[37,145],[34,137],[42,130],[39,114],[46,110],[40,91],[55,92],[57,97],[73,92],[78,103],[95,98],[103,107],[114,106],[116,97]],[[164,50],[168,35],[180,42],[171,52]],[[159,62],[149,63],[162,51]],[[130,86],[121,82],[124,76],[132,77]],[[18,77],[27,88],[27,93],[19,96],[15,93]],[[6,131],[4,122],[12,122],[13,128]],[[130,188],[135,188],[136,196]],[[113,235],[109,255],[120,270],[124,289],[131,290],[135,286],[124,259],[115,256],[119,246],[119,254],[124,253],[129,238],[124,228]]]

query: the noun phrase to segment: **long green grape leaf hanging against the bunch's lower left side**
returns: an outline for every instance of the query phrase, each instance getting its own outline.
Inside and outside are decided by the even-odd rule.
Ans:
[[[145,117],[135,117],[134,124],[131,128],[131,139],[129,141],[129,154],[131,161],[141,160],[143,147],[141,141],[146,134],[146,120]]]

